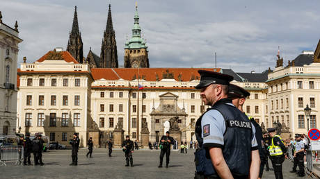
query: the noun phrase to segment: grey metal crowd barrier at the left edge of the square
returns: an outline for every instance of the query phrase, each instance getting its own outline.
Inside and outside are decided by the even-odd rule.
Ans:
[[[0,148],[0,164],[6,166],[6,162],[22,164],[24,160],[24,148],[22,146],[2,146]]]

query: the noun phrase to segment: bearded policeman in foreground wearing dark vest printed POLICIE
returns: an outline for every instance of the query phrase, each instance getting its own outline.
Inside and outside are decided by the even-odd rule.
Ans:
[[[195,178],[258,178],[255,127],[227,99],[233,77],[214,71],[198,72],[200,84],[195,88],[201,89],[203,103],[211,108],[195,123],[200,147],[195,151]]]

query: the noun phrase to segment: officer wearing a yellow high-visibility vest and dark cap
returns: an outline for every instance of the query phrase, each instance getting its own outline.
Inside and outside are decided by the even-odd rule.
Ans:
[[[280,135],[275,135],[275,128],[268,128],[268,133],[271,139],[271,145],[269,146],[269,155],[275,172],[276,179],[282,179],[282,163],[285,161],[285,153],[287,148],[282,141]]]

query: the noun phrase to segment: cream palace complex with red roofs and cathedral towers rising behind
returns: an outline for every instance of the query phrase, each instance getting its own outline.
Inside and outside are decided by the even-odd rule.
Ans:
[[[125,68],[119,68],[109,5],[100,56],[90,49],[83,58],[76,8],[67,51],[56,48],[35,62],[24,60],[18,69],[16,128],[24,134],[42,133],[61,144],[79,133],[81,146],[86,146],[88,137],[96,146],[104,146],[107,139],[124,135],[159,142],[173,127],[178,141],[194,141],[195,121],[209,108],[194,88],[200,81],[199,69],[230,74],[233,84],[247,89],[251,95],[244,110],[263,130],[277,125],[283,133],[307,133],[303,113],[307,104],[312,108],[310,127],[320,125],[320,44],[314,53],[304,51],[287,66],[278,56],[275,69],[263,73],[149,68],[137,6],[131,31],[125,43]]]

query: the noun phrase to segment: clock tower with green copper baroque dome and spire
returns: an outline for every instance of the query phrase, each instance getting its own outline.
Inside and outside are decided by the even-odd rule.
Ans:
[[[125,68],[149,68],[147,53],[147,45],[145,44],[145,40],[141,37],[138,6],[136,5],[132,36],[130,40],[127,40],[125,43]]]

